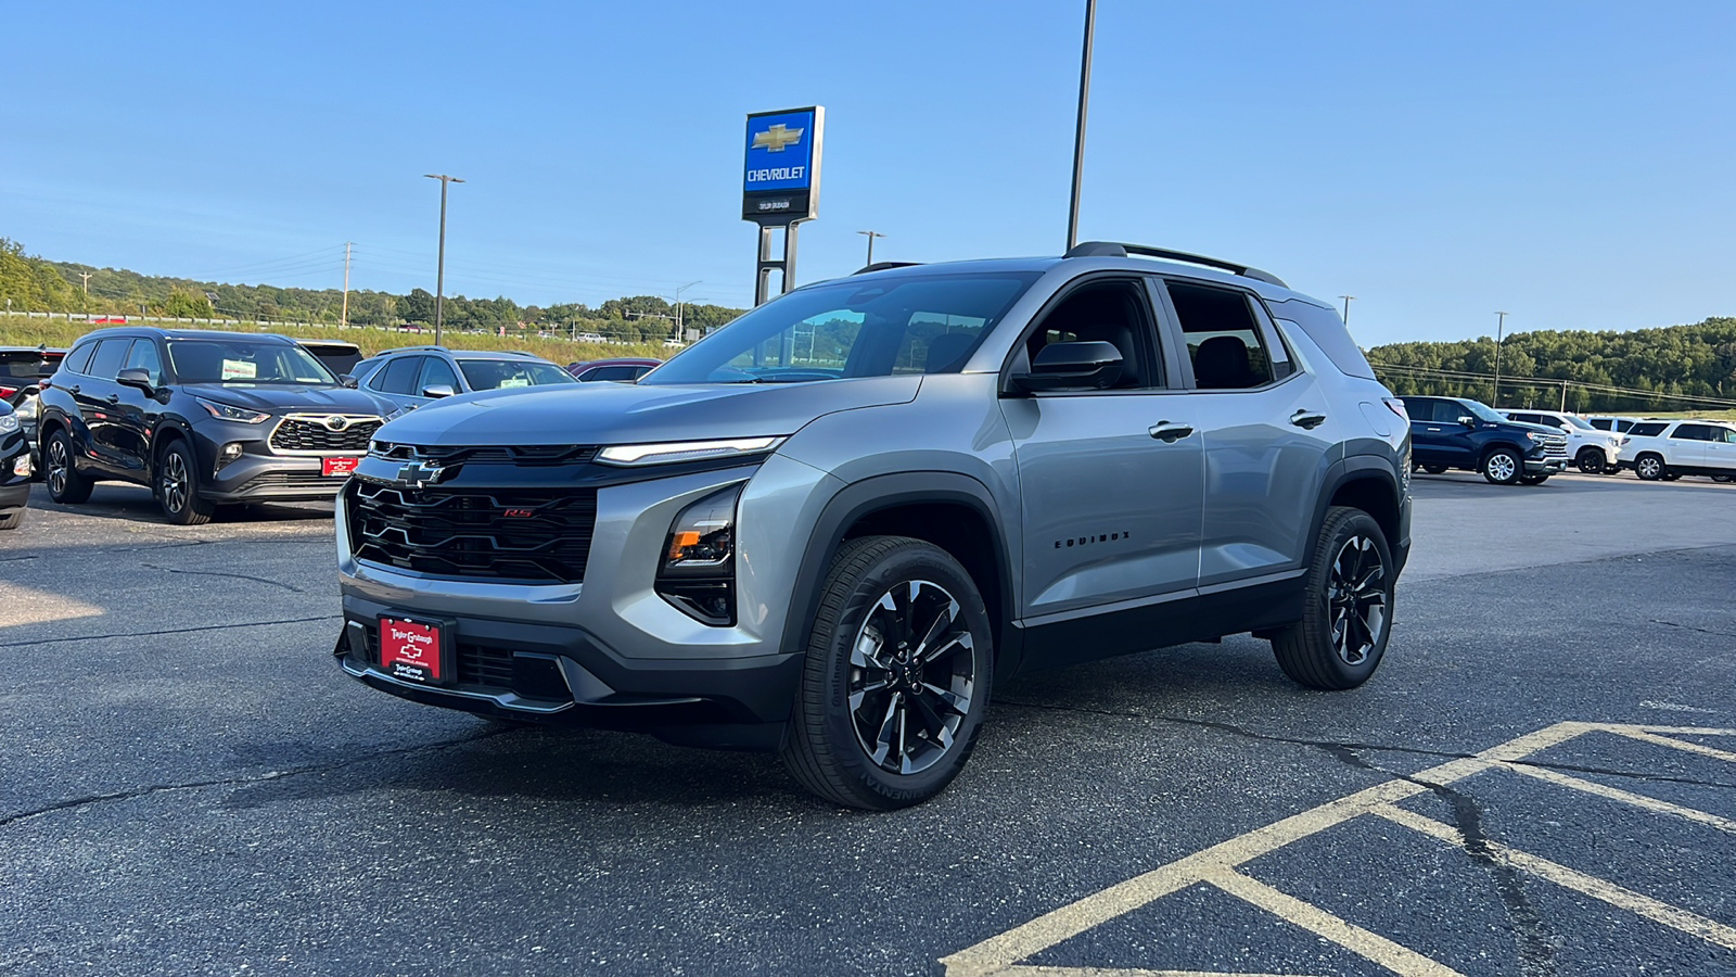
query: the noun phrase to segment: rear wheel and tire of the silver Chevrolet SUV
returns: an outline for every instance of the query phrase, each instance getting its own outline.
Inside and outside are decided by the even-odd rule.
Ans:
[[[1397,577],[1380,523],[1363,509],[1326,509],[1305,581],[1302,621],[1272,635],[1278,668],[1309,688],[1356,688],[1380,668],[1392,635]]]

